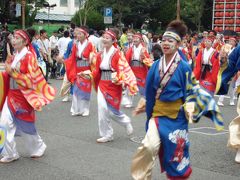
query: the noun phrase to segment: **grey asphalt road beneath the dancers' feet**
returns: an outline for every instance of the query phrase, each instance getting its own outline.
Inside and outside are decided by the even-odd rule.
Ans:
[[[59,88],[61,81],[51,80]],[[138,97],[135,98],[135,105]],[[237,180],[240,179],[240,164],[234,162],[235,151],[227,148],[227,127],[237,113],[236,108],[221,108],[226,131],[218,133],[213,123],[202,118],[190,125],[190,153],[193,180]],[[24,142],[17,138],[21,158],[10,164],[0,164],[0,180],[130,180],[131,159],[145,134],[145,114],[132,117],[134,134],[132,140],[125,128],[113,122],[114,141],[97,144],[99,138],[96,93],[92,94],[89,117],[72,117],[71,102],[61,102],[57,97],[53,103],[37,113],[37,129],[47,144],[45,155],[30,159],[24,151]],[[132,109],[122,109],[131,117]],[[153,180],[166,179],[160,174],[159,162],[153,170]]]

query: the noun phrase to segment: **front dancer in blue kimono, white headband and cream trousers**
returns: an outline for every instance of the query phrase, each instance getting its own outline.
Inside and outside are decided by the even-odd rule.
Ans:
[[[178,50],[186,31],[181,21],[168,25],[161,43],[164,55],[148,72],[146,103],[141,102],[135,110],[136,114],[145,110],[147,114],[147,132],[131,166],[135,180],[151,179],[157,155],[168,179],[190,176],[188,118],[197,122],[205,115],[213,120],[218,130],[223,129],[222,116],[214,99],[195,83],[191,67]],[[192,114],[187,109],[189,104],[194,107]]]

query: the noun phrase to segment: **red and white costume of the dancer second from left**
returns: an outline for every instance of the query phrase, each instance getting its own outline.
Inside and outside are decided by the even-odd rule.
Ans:
[[[65,61],[68,80],[73,86],[72,115],[88,115],[92,83],[77,74],[91,69],[91,56],[95,48],[87,39],[73,45],[71,56]]]

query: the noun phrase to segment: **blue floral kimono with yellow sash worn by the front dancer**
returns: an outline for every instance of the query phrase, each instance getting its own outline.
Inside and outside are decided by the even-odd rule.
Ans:
[[[158,89],[162,77],[159,73],[159,64],[163,58],[152,65],[146,82],[146,129],[148,121],[154,118],[161,140],[159,150],[161,169],[162,172],[166,171],[170,179],[187,178],[192,171],[189,159],[188,120],[184,110],[186,102],[195,102],[194,122],[197,122],[200,116],[205,115],[213,120],[218,130],[223,129],[222,116],[214,99],[195,84],[192,70],[180,51],[175,59],[177,58],[176,68],[172,69],[174,72],[165,87],[161,88],[160,94],[158,94]],[[171,66],[168,71],[171,71]],[[175,105],[175,102],[178,103]],[[175,117],[172,116],[174,113]]]

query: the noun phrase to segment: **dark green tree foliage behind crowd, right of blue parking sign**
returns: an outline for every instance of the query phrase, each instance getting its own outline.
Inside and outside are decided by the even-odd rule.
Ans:
[[[120,3],[119,3],[120,1]],[[141,28],[147,22],[148,28],[156,31],[165,28],[176,19],[177,0],[99,0],[98,11],[103,7],[113,8],[115,24],[119,22],[126,26]],[[191,30],[201,30],[211,26],[212,0],[181,0],[181,19]],[[210,5],[210,6],[209,6]]]

